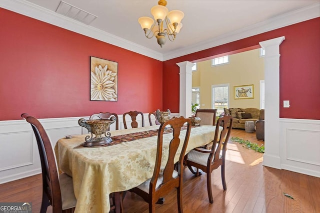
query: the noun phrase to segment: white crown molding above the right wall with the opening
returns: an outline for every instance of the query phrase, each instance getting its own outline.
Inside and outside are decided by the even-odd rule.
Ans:
[[[199,42],[191,46],[171,51],[163,56],[163,61],[187,55],[193,52],[198,52],[204,49],[209,49],[215,46],[257,35],[273,29],[288,26],[294,23],[306,21],[319,16],[320,2],[276,16],[274,18],[270,18],[265,21],[258,22],[256,24],[229,33],[225,33],[223,35],[214,37],[209,41]]]

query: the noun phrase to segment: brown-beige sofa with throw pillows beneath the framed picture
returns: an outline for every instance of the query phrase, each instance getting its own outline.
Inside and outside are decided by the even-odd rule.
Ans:
[[[257,121],[260,111],[257,108],[224,108],[225,115],[233,117],[232,128],[244,129],[245,121]]]

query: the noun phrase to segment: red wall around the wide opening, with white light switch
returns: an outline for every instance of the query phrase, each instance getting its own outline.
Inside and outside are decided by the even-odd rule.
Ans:
[[[320,120],[320,17],[164,61],[163,109],[179,111],[176,63],[239,52],[280,36],[280,117]],[[290,108],[283,108],[283,100],[290,100]]]

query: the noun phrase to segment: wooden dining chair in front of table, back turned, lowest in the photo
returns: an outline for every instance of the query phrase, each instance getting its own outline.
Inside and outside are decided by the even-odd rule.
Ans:
[[[186,125],[186,133],[183,134],[184,140],[179,138],[181,133],[181,127]],[[165,134],[170,135],[170,142],[168,147],[168,160],[165,165],[161,166],[161,159],[162,159],[162,151],[163,151],[163,134],[164,129],[167,127],[172,129],[172,133]],[[159,198],[167,195],[172,189],[177,189],[177,205],[178,205],[178,212],[182,213],[182,175],[183,175],[183,166],[181,163],[183,162],[185,150],[187,147],[187,143],[190,136],[190,128],[191,128],[191,121],[190,119],[185,119],[182,116],[179,118],[173,117],[170,120],[167,120],[165,123],[161,124],[159,127],[158,137],[157,137],[157,151],[156,151],[156,158],[155,158],[155,166],[152,178],[147,180],[146,182],[142,183],[141,185],[129,190],[139,196],[141,196],[144,201],[149,204],[149,213],[155,212],[155,203],[158,201]],[[172,138],[171,138],[172,136]],[[181,144],[183,143],[183,145]],[[174,156],[178,150],[178,147],[181,148],[181,152],[179,154],[179,160],[175,164]],[[175,170],[175,168],[177,168]],[[160,172],[162,169],[163,172]]]

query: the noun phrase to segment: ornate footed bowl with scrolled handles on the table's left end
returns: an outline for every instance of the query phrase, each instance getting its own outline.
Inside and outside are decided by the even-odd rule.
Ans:
[[[88,130],[91,133],[91,136],[86,136],[84,138],[85,142],[83,146],[102,146],[108,144],[112,141],[110,137],[109,127],[112,123],[115,122],[115,118],[111,117],[110,119],[95,119],[95,120],[85,120],[80,118],[78,124]],[[93,135],[95,137],[93,137]]]

